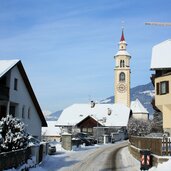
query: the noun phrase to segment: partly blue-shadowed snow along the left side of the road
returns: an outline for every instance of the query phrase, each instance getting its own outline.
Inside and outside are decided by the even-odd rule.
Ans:
[[[67,171],[71,166],[88,157],[96,148],[99,148],[99,145],[73,147],[72,151],[66,151],[58,143],[57,153],[47,156],[42,164],[31,168],[30,171]]]

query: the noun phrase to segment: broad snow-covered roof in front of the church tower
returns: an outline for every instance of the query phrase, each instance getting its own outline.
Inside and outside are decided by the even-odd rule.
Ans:
[[[108,115],[108,111],[111,114]],[[96,120],[103,122],[104,126],[126,126],[128,123],[130,109],[124,104],[73,104],[61,113],[56,125],[73,126],[82,121],[87,116],[92,116]]]

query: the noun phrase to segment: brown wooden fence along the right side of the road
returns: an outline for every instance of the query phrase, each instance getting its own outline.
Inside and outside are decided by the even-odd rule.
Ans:
[[[147,137],[129,137],[131,145],[139,149],[149,149],[153,154],[162,156],[171,155],[171,139],[163,138],[147,138]]]

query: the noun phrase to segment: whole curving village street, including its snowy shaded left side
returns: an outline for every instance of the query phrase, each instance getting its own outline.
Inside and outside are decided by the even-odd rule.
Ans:
[[[73,152],[58,152],[31,171],[137,171],[139,168],[139,162],[129,154],[127,141],[124,141]]]

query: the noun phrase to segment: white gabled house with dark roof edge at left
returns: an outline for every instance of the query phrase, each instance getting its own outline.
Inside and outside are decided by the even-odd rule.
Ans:
[[[21,119],[26,131],[41,138],[46,120],[20,60],[0,60],[0,119],[11,114]]]

